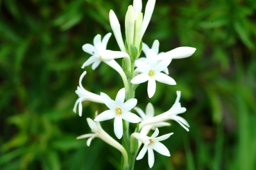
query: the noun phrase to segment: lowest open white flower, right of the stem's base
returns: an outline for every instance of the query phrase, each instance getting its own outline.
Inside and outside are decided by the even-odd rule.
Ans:
[[[144,147],[139,152],[139,155],[137,156],[136,160],[142,159],[146,151],[148,151],[148,165],[150,168],[153,167],[153,164],[155,162],[153,150],[157,151],[162,155],[171,156],[167,147],[165,147],[164,144],[160,143],[160,141],[166,140],[171,135],[173,135],[173,133],[168,133],[167,135],[162,135],[160,137],[157,137],[158,134],[159,134],[158,129],[155,129],[155,132],[153,133],[153,135],[151,135],[151,137],[142,135],[140,133],[133,133],[131,137],[131,138],[137,138],[137,140],[140,140],[142,143],[144,143]]]

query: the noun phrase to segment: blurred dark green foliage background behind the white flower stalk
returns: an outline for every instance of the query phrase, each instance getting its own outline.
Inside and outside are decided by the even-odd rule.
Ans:
[[[81,47],[92,44],[96,34],[112,32],[110,9],[123,29],[132,3],[0,0],[0,169],[119,167],[119,151],[99,138],[90,147],[86,140],[76,140],[90,133],[86,117],[105,106],[83,102],[82,117],[72,109],[80,66],[89,57]],[[182,117],[191,125],[189,132],[176,122],[160,129],[160,135],[174,133],[163,142],[171,157],[155,153],[152,169],[255,169],[255,0],[157,0],[143,41],[152,46],[155,39],[160,51],[179,46],[197,50],[171,62],[177,86],[157,84],[150,100],[146,83],[137,88],[137,106],[144,110],[151,102],[158,114],[172,106],[180,90],[187,108]],[[108,49],[119,50],[113,35]],[[83,86],[89,91],[114,98],[123,87],[106,64],[85,70]],[[102,126],[114,136],[112,120]],[[135,162],[135,169],[149,169],[147,155]]]

